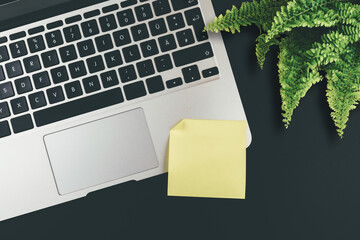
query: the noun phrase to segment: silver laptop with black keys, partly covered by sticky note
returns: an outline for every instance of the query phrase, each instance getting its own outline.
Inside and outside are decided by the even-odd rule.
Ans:
[[[1,0],[0,21],[69,1]],[[246,120],[214,17],[109,0],[1,32],[0,220],[165,173],[181,119]]]

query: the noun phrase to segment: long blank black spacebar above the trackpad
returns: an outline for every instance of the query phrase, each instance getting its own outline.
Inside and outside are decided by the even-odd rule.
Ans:
[[[120,88],[34,112],[36,126],[41,127],[124,101]]]

